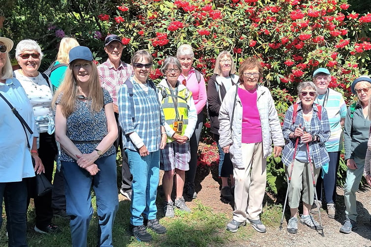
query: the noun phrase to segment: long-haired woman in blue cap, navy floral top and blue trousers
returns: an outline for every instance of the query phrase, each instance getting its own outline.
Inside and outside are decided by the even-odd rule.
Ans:
[[[117,125],[112,98],[100,85],[89,48],[76,46],[69,55],[64,81],[53,102],[72,246],[87,246],[93,215],[91,187],[97,199],[97,246],[112,246],[112,226],[118,209],[116,153],[112,145],[117,138]]]

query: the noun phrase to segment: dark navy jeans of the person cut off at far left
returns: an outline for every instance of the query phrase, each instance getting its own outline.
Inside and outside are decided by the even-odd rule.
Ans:
[[[27,187],[24,181],[0,183],[0,205],[4,198],[9,247],[27,247]],[[0,206],[0,227],[2,225]]]

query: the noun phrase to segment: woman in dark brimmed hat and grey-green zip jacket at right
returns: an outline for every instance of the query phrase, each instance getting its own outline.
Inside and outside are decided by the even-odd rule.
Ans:
[[[362,179],[367,141],[371,121],[369,119],[369,102],[371,79],[361,76],[351,85],[352,92],[357,94],[356,105],[348,108],[344,125],[345,161],[348,169],[344,184],[345,221],[340,227],[341,233],[351,233],[357,225],[356,192]]]

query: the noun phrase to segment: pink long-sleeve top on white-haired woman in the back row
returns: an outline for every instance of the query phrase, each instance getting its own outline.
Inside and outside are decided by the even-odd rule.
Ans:
[[[192,67],[188,73],[187,78],[185,78],[183,75],[180,75],[178,78],[180,82],[186,80],[186,87],[192,92],[192,97],[194,105],[196,106],[197,114],[202,112],[202,109],[205,107],[207,100],[205,79],[202,74],[200,74],[200,76],[201,81],[200,83],[198,83],[195,69]]]

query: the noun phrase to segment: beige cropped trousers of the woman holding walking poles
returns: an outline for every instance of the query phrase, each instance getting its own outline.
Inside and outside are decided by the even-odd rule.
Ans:
[[[287,177],[289,177],[290,175],[292,166],[293,164],[286,167]],[[314,165],[312,165],[312,167],[314,173],[314,181],[317,181],[317,177],[320,173],[321,168],[316,169]],[[309,205],[313,204],[315,187],[313,186],[312,171],[310,169],[309,163],[301,163],[295,160],[294,170],[291,175],[291,182],[289,186],[290,208],[299,207],[301,191],[303,192],[302,201]]]

